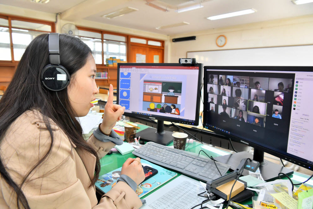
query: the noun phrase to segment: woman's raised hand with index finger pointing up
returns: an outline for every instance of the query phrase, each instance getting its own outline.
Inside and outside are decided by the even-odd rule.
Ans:
[[[104,107],[103,121],[100,126],[101,131],[109,134],[115,123],[122,119],[125,107],[121,105],[113,104],[113,86],[110,84],[108,101]]]

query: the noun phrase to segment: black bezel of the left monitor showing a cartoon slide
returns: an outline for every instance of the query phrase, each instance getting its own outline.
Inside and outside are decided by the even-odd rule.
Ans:
[[[195,64],[179,64],[179,63],[117,63],[117,92],[116,92],[116,104],[119,104],[119,82],[120,82],[120,66],[182,66],[182,67],[199,67],[198,71],[198,87],[197,87],[197,101],[196,101],[196,115],[195,115],[195,122],[189,121],[182,121],[181,119],[171,118],[171,117],[160,117],[159,115],[153,115],[151,112],[151,116],[149,115],[142,115],[136,113],[129,113],[124,112],[125,116],[128,117],[135,117],[135,118],[148,118],[154,120],[162,120],[162,121],[170,121],[173,123],[183,123],[188,125],[198,126],[199,124],[199,108],[200,108],[200,88],[202,84],[202,72],[203,72],[203,64],[202,63],[195,63]],[[192,124],[193,123],[193,124]]]

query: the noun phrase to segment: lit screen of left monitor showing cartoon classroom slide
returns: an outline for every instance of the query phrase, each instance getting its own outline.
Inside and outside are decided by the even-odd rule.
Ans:
[[[121,65],[119,104],[125,112],[195,121],[198,66]]]

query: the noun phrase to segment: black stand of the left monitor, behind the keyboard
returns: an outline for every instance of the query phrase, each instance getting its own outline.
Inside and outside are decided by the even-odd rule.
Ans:
[[[136,135],[140,136],[140,140],[146,142],[155,142],[157,144],[167,145],[173,141],[171,131],[164,131],[164,121],[157,120],[157,129],[146,128],[139,131]]]

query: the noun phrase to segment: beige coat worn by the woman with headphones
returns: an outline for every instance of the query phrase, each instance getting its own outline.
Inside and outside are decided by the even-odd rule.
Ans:
[[[97,205],[95,186],[88,189],[95,172],[95,156],[77,149],[64,132],[51,121],[54,143],[48,158],[23,184],[22,190],[31,209],[43,208],[122,208],[142,206],[137,194],[125,182],[119,181],[102,196]],[[101,142],[93,135],[88,143],[99,157],[115,146]],[[51,144],[48,129],[38,111],[27,111],[8,128],[0,144],[3,164],[18,185],[28,171],[47,153]],[[0,177],[0,208],[17,208],[16,194]]]

